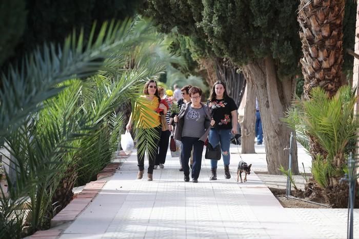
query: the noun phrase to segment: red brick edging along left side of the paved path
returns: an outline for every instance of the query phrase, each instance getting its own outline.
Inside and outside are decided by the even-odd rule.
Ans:
[[[120,151],[119,158],[128,158],[124,151]],[[90,202],[96,197],[97,193],[106,184],[103,178],[112,176],[119,168],[120,163],[110,163],[101,172],[97,174],[97,181],[89,182],[85,188],[76,195],[76,197],[59,213],[57,213],[51,220],[51,227],[72,222],[77,216],[89,205]],[[63,230],[50,228],[49,230],[37,231],[30,238],[58,238]]]

